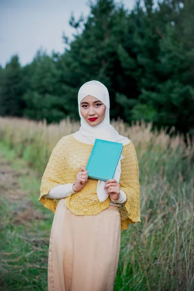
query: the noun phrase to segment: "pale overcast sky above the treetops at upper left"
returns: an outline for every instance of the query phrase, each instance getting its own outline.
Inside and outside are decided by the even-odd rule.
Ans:
[[[135,0],[122,2],[131,9]],[[0,65],[14,54],[21,65],[31,63],[40,48],[63,52],[63,32],[74,32],[68,24],[71,12],[79,17],[89,11],[87,0],[0,0]]]

